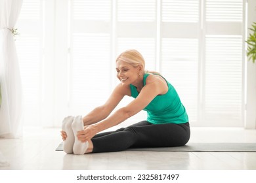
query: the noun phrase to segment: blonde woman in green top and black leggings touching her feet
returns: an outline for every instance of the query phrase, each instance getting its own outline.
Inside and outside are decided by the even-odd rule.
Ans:
[[[184,146],[190,139],[186,109],[175,88],[156,72],[145,72],[137,50],[126,50],[116,59],[116,86],[108,101],[85,117],[68,116],[62,123],[66,153],[115,152],[127,148]],[[134,97],[126,107],[112,110],[125,95]],[[146,110],[145,121],[99,133]]]

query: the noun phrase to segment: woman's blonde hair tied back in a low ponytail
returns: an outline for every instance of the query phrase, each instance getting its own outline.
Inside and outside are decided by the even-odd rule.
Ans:
[[[133,67],[138,67],[139,65],[141,65],[142,71],[144,73],[160,75],[160,73],[155,71],[145,71],[145,60],[142,54],[140,54],[140,52],[138,52],[137,50],[125,50],[124,52],[119,54],[119,56],[116,58],[116,62],[119,60],[125,61],[126,63],[131,64]]]

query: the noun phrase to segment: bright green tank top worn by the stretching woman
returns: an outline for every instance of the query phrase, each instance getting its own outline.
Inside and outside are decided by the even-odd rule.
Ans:
[[[143,84],[146,84],[146,78],[150,74],[145,74]],[[146,110],[147,121],[152,124],[184,124],[188,122],[188,114],[181,103],[181,99],[175,88],[167,81],[168,92],[164,95],[156,96],[143,110]],[[139,93],[137,88],[130,84],[131,96],[136,98]]]

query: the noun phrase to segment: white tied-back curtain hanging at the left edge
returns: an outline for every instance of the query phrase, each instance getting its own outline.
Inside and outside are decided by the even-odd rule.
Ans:
[[[12,29],[16,24],[22,0],[0,0],[0,137],[21,135],[22,86],[20,68]]]

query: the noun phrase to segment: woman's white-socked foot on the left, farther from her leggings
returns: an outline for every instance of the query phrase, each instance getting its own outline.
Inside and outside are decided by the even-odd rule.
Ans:
[[[67,134],[67,138],[63,141],[63,150],[66,154],[73,153],[73,146],[75,142],[74,133],[72,130],[72,122],[74,120],[74,116],[68,116],[64,118],[62,121],[62,131],[65,131]]]

